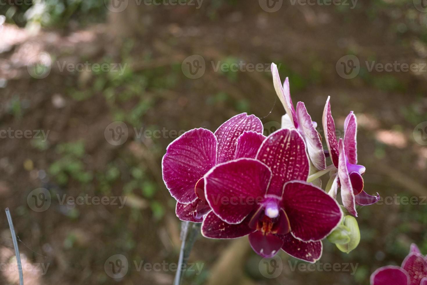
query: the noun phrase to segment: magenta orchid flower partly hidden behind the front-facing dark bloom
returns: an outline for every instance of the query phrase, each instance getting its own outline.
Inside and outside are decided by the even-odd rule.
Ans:
[[[218,163],[252,157],[264,140],[261,120],[242,113],[215,131],[192,129],[169,144],[162,160],[164,183],[177,200],[180,220],[200,223],[210,211],[203,176]]]

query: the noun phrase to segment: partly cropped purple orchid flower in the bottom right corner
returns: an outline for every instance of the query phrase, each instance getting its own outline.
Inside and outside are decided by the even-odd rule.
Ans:
[[[402,266],[378,268],[371,275],[371,285],[427,285],[427,257],[411,245]]]

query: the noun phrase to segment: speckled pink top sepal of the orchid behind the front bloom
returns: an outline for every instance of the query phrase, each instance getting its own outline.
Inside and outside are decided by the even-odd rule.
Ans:
[[[237,139],[244,131],[263,132],[263,124],[255,115],[242,113],[223,123],[215,131],[218,139],[218,157],[216,163],[234,159]]]

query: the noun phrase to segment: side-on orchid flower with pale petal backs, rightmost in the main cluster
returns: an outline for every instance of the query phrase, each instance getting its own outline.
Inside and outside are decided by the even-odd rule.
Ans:
[[[338,185],[341,185],[342,204],[345,209],[357,217],[356,204],[361,206],[377,203],[380,196],[371,196],[363,190],[363,178],[366,168],[357,164],[357,120],[353,111],[345,118],[344,138],[336,140],[335,123],[330,111],[330,96],[323,110],[322,124],[326,144],[333,165],[338,169],[329,194],[336,198]]]

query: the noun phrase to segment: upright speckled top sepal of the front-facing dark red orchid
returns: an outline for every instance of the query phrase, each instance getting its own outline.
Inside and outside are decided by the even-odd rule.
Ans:
[[[269,135],[258,150],[257,159],[273,173],[267,194],[281,197],[286,182],[307,180],[308,155],[304,139],[296,129],[279,129]]]

